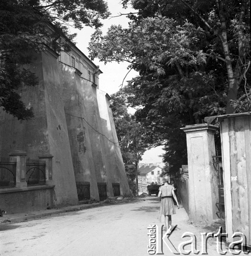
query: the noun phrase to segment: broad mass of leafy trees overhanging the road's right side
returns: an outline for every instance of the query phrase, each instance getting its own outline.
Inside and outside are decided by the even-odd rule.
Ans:
[[[164,159],[175,171],[186,164],[180,127],[233,108],[251,110],[249,2],[128,3],[138,11],[128,14],[129,28],[112,26],[106,35],[97,30],[90,57],[128,61],[139,72],[124,95],[138,108],[136,120],[161,135],[155,145],[165,145]]]

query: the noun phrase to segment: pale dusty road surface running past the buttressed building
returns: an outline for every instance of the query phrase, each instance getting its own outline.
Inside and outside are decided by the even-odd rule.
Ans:
[[[147,227],[157,224],[160,236],[163,219],[162,223],[157,221],[159,206],[159,200],[151,197],[145,201],[0,225],[0,255],[149,255]],[[177,248],[188,240],[181,238],[186,231],[193,232],[200,243],[203,230],[188,224],[184,208],[177,209],[173,224],[178,226],[170,240]],[[171,247],[169,242],[167,244]],[[198,244],[197,249],[200,247]],[[163,248],[165,255],[174,255],[165,244]],[[209,255],[219,255],[214,242],[209,245]]]

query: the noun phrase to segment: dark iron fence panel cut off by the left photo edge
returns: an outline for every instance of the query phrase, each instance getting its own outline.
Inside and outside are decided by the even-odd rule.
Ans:
[[[0,159],[0,188],[16,186],[16,159]]]

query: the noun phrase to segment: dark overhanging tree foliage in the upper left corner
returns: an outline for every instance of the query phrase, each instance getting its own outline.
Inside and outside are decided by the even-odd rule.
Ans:
[[[0,106],[18,119],[33,117],[32,109],[21,101],[21,84],[34,86],[36,76],[24,68],[34,52],[46,47],[69,51],[75,34],[68,26],[102,26],[109,16],[103,0],[2,0],[0,2]],[[53,27],[53,32],[48,29]],[[61,38],[64,40],[61,40]]]

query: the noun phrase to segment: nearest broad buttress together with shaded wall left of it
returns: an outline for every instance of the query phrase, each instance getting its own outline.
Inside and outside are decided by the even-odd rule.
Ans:
[[[54,205],[78,204],[57,56],[49,51],[36,54],[30,69],[39,83],[22,87],[19,92],[23,102],[33,108],[34,118],[18,121],[0,112],[0,156],[7,157],[15,150],[26,151],[28,158],[52,154]]]

